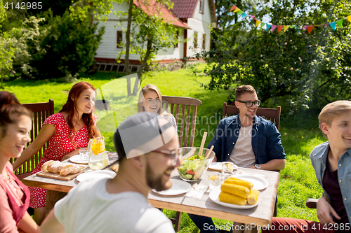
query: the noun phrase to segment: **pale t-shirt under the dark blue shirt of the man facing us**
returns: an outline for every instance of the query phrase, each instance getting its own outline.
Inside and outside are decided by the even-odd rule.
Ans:
[[[251,141],[252,124],[249,127],[241,127],[237,143],[230,154],[230,160],[238,167],[251,167],[256,164]]]

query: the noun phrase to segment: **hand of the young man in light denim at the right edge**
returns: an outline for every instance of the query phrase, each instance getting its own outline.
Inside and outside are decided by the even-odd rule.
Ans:
[[[328,197],[326,197],[326,195],[323,195],[323,197],[319,198],[317,202],[317,218],[322,224],[335,224],[333,221],[333,216],[337,219],[341,219],[340,216],[338,216],[338,213],[336,213],[333,207],[331,207]]]

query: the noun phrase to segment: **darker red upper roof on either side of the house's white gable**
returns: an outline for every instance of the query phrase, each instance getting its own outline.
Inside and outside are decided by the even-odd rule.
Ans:
[[[172,12],[180,19],[188,19],[190,17],[193,17],[198,1],[199,0],[172,0],[174,3]],[[217,27],[215,2],[213,0],[208,0],[208,5],[210,6],[211,22],[216,23]]]

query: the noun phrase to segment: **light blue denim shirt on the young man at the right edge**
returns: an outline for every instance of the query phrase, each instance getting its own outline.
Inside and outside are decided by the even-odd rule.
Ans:
[[[326,159],[329,152],[329,142],[316,146],[310,154],[310,159],[314,171],[316,172],[317,181],[322,186],[324,193],[329,197],[328,192],[323,187],[324,170],[326,169]],[[343,203],[346,209],[347,218],[351,224],[351,148],[349,148],[338,161],[338,180],[343,196]],[[330,199],[330,197],[329,197]]]

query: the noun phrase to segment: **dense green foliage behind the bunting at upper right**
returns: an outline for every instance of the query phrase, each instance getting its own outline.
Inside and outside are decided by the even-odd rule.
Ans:
[[[350,1],[274,0],[252,8],[259,20],[264,15],[276,25],[305,25],[335,22],[351,14]],[[217,31],[216,49],[203,52],[206,73],[211,82],[206,88],[229,88],[234,81],[256,87],[263,101],[284,98],[296,108],[320,108],[336,99],[351,98],[350,22],[334,31],[314,27],[311,34],[296,29],[285,33],[255,28],[251,17]],[[234,34],[228,37],[231,29]]]

